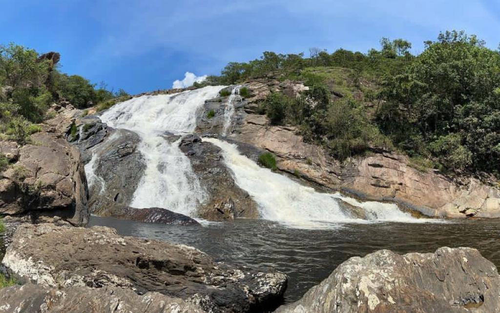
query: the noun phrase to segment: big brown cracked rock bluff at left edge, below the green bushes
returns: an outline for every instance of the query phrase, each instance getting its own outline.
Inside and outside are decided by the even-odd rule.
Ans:
[[[88,191],[80,155],[54,131],[43,125],[31,135],[32,144],[8,148],[12,166],[1,173],[1,214],[29,214],[34,220],[60,216],[74,225],[87,223]]]

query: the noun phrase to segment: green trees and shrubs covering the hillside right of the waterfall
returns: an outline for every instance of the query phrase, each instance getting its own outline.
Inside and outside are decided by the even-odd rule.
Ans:
[[[500,52],[463,31],[440,33],[419,55],[382,38],[367,53],[310,48],[230,62],[204,85],[271,77],[303,82],[298,98],[273,92],[260,103],[272,124],[345,158],[399,150],[420,170],[500,175]],[[241,91],[240,91],[241,92]]]

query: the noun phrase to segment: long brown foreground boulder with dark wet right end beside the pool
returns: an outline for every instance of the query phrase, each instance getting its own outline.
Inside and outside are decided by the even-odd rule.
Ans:
[[[207,312],[249,312],[279,301],[286,276],[214,263],[184,245],[122,237],[106,227],[19,226],[2,261],[51,288],[105,286],[159,292]]]

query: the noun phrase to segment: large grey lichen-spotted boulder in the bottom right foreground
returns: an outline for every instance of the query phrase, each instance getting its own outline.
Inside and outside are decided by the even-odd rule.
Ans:
[[[475,249],[403,256],[381,250],[350,258],[276,313],[498,313],[499,292],[495,266]]]

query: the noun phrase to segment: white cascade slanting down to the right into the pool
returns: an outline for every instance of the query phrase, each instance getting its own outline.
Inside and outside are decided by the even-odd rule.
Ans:
[[[291,227],[331,227],[338,223],[425,222],[400,211],[396,205],[378,202],[360,203],[354,199],[316,192],[286,176],[258,166],[241,155],[236,145],[214,138],[204,138],[222,149],[224,164],[232,170],[236,184],[258,204],[263,219]],[[336,198],[361,208],[367,219],[359,219],[343,212]]]

